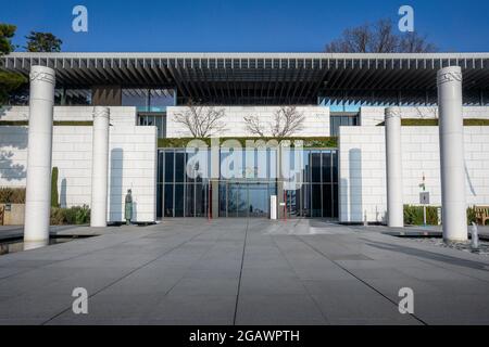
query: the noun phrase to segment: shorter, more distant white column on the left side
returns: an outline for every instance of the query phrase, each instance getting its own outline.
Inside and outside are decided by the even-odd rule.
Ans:
[[[106,227],[109,118],[109,107],[93,107],[90,227]]]

